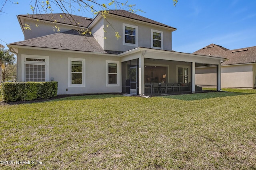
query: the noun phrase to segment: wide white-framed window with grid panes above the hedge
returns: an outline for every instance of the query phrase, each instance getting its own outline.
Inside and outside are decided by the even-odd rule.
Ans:
[[[49,81],[49,56],[21,55],[21,81]]]

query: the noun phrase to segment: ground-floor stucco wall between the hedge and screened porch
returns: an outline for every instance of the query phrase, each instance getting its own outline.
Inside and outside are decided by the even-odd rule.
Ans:
[[[58,81],[58,94],[82,94],[82,93],[120,93],[121,84],[121,62],[119,63],[119,86],[106,87],[106,60],[120,61],[119,57],[101,56],[95,54],[72,53],[68,51],[43,51],[19,49],[19,73],[21,73],[20,56],[46,55],[49,56],[49,80],[51,77]],[[86,61],[86,87],[68,87],[68,57],[83,58]],[[21,75],[18,75],[21,81]],[[66,91],[68,89],[68,91]]]

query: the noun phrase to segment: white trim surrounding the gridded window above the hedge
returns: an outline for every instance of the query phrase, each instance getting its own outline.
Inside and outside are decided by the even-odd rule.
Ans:
[[[45,61],[26,61],[26,58],[37,58],[37,59],[45,59]],[[21,81],[26,81],[26,64],[36,64],[36,65],[45,65],[45,81],[49,81],[49,56],[46,55],[21,55]]]

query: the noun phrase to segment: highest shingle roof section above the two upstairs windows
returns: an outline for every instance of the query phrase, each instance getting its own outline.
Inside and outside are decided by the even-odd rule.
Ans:
[[[176,28],[174,27],[171,27],[171,26],[168,26],[166,24],[162,24],[160,22],[156,22],[154,20],[150,20],[149,18],[145,18],[143,16],[140,16],[140,15],[137,15],[137,14],[134,14],[132,12],[128,12],[126,10],[109,10],[108,11],[109,14],[114,14],[114,15],[117,15],[117,16],[123,16],[123,17],[126,17],[126,18],[131,18],[131,19],[134,19],[134,20],[139,20],[139,21],[143,21],[143,22],[148,22],[148,23],[151,23],[151,24],[156,24],[156,25],[159,25],[159,26],[164,26],[164,27],[168,27],[168,28],[172,28],[172,29],[175,29],[177,30]]]

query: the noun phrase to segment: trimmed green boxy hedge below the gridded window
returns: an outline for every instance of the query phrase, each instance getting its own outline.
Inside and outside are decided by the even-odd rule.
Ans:
[[[5,82],[1,84],[4,101],[49,99],[57,96],[58,82]]]

